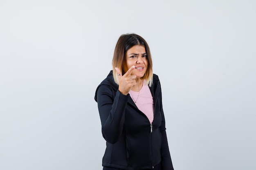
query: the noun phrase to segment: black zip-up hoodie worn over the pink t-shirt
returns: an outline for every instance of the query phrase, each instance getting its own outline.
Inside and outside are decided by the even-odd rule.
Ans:
[[[152,124],[129,94],[123,95],[118,91],[112,71],[98,86],[94,99],[98,103],[102,135],[107,145],[102,166],[146,170],[161,163],[162,170],[173,170],[165,131],[161,86],[155,74],[150,91],[154,101]]]

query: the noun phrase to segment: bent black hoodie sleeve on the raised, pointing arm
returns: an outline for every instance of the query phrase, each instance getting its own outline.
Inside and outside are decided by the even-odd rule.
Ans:
[[[101,85],[98,88],[97,102],[102,135],[110,144],[117,142],[121,136],[128,99],[129,95],[123,95],[119,91],[113,92],[108,85]]]

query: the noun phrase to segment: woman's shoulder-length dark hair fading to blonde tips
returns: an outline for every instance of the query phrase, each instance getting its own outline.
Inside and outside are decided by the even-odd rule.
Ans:
[[[146,70],[146,73],[144,74],[142,79],[146,80],[146,84],[149,86],[153,83],[153,64],[152,64],[152,58],[150,54],[150,49],[148,46],[148,43],[139,35],[137,34],[123,34],[119,37],[115,51],[114,56],[112,59],[112,66],[113,66],[113,77],[117,84],[119,84],[119,79],[117,75],[117,71],[115,70],[115,67],[119,68],[121,70],[121,74],[124,75],[124,63],[126,60],[126,52],[132,48],[132,46],[135,45],[141,45],[145,47],[146,53],[147,53],[147,60],[148,60],[148,68]]]

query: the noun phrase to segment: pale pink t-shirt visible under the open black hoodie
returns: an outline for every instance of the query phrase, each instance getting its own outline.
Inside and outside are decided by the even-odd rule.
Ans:
[[[133,102],[136,101],[137,108],[148,117],[150,124],[152,124],[154,119],[154,102],[149,87],[145,85],[145,81],[139,92],[130,91],[129,94]]]

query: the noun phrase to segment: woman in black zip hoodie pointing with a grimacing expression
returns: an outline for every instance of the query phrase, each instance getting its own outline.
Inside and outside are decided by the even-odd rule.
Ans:
[[[107,144],[103,170],[173,170],[161,86],[147,42],[121,35],[112,66],[95,93]]]

